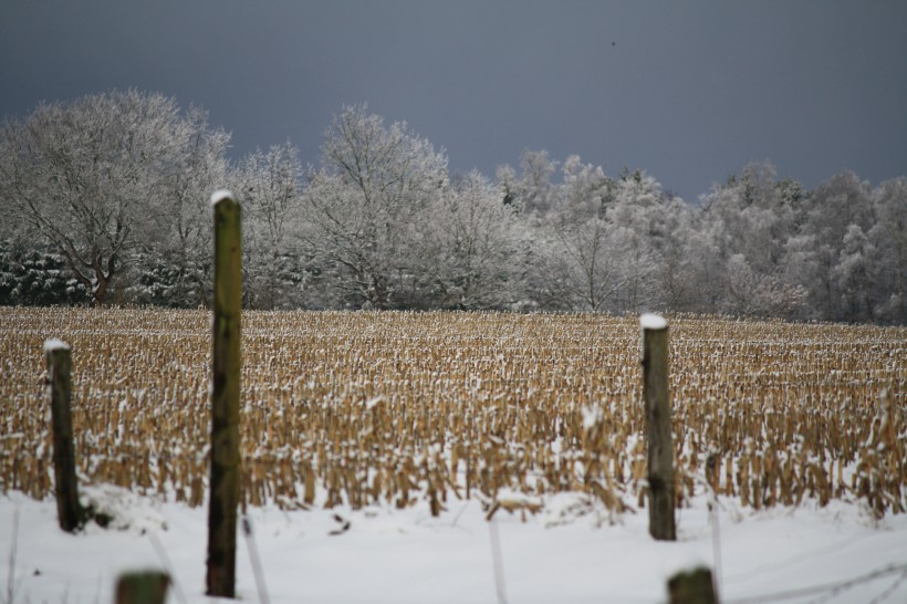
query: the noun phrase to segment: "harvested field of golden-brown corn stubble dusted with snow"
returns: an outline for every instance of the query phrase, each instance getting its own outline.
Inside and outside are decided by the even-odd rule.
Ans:
[[[201,504],[210,315],[0,309],[0,488],[52,497],[42,344],[73,351],[81,480]],[[907,504],[907,329],[669,321],[678,506]],[[580,491],[643,504],[635,316],[248,312],[243,506],[476,498],[533,512]]]

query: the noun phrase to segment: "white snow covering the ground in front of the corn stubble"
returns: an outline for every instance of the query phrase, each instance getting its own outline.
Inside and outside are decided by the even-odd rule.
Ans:
[[[119,572],[161,567],[176,577],[168,602],[216,600],[205,596],[207,508],[161,503],[113,487],[85,494],[112,512],[115,528],[92,524],[66,534],[58,528],[53,500],[0,494],[0,603],[112,602]],[[580,494],[544,502],[525,522],[519,511],[500,510],[493,525],[475,499],[449,501],[439,518],[419,503],[407,510],[257,508],[249,519],[273,603],[493,604],[496,533],[511,604],[666,602],[667,576],[698,563],[717,567],[716,552],[724,604],[907,602],[907,514],[875,522],[840,501],[823,509],[807,502],[754,512],[721,500],[716,540],[707,500],[699,497],[678,511],[678,541],[665,543],[649,538],[645,509],[611,517]],[[242,531],[237,543],[238,597],[260,602]],[[780,597],[893,565],[899,570],[837,592]],[[763,595],[772,597],[747,600]]]

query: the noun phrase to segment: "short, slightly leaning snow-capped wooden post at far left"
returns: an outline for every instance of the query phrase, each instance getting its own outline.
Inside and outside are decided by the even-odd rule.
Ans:
[[[61,340],[48,340],[44,342],[44,357],[48,362],[48,384],[51,389],[56,517],[61,529],[74,532],[82,525],[85,513],[79,503],[75,447],[72,441],[72,350]]]

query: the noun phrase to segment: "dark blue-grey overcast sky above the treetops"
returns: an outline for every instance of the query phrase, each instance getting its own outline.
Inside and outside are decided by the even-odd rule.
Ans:
[[[751,160],[907,174],[904,0],[0,1],[0,115],[127,87],[202,106],[237,157],[314,164],[367,102],[452,171],[548,149],[690,201]]]

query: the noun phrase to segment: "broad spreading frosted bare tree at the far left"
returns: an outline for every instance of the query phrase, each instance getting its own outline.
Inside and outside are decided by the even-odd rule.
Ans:
[[[208,136],[202,112],[184,113],[160,94],[42,104],[0,127],[0,199],[103,304],[143,246],[154,247],[155,218],[166,216],[168,225],[176,218],[175,196],[188,190],[187,166]]]

